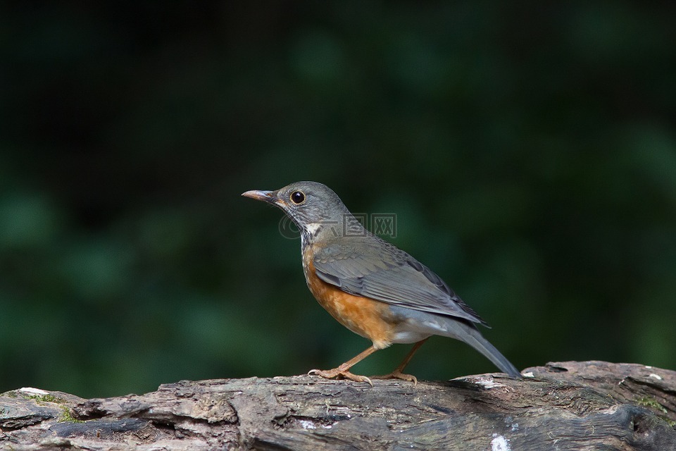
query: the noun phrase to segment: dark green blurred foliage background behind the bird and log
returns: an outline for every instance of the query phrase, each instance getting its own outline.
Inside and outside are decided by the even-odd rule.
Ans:
[[[0,392],[361,352],[281,211],[239,196],[294,180],[396,214],[388,239],[519,368],[676,368],[674,23],[670,1],[4,2]],[[438,337],[410,370],[495,371]]]

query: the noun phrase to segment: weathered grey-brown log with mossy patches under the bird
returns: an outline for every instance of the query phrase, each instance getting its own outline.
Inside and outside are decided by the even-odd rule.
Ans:
[[[0,395],[3,450],[676,450],[676,371],[558,362],[451,381],[181,381]]]

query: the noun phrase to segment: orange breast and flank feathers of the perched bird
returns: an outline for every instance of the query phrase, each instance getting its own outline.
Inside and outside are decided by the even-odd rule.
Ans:
[[[392,345],[394,322],[389,306],[368,297],[354,296],[317,277],[311,249],[303,252],[308,288],[322,307],[352,332],[373,341],[378,349]]]

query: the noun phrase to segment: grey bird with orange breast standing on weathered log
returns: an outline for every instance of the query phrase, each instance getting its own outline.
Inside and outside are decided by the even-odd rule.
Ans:
[[[334,319],[372,345],[334,369],[311,375],[349,379],[373,386],[371,378],[418,379],[403,373],[413,354],[432,335],[455,338],[483,354],[503,373],[521,378],[477,328],[486,321],[442,278],[407,252],[365,229],[338,195],[311,181],[242,196],[284,211],[301,237],[303,273],[312,295]],[[361,376],[352,366],[394,343],[414,343],[403,362],[383,376]]]

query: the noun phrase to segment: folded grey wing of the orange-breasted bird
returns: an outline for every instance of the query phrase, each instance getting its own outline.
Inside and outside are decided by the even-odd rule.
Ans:
[[[373,235],[332,242],[313,264],[320,279],[351,295],[486,325],[430,268]]]

